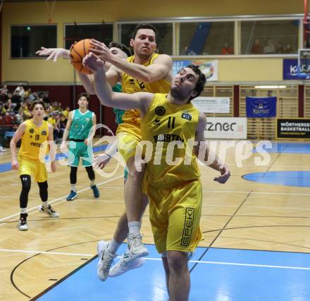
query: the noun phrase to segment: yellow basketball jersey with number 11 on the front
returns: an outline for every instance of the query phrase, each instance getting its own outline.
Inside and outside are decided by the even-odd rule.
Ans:
[[[193,153],[199,111],[192,103],[173,105],[166,97],[167,94],[155,94],[141,122],[142,141],[152,143],[148,180],[154,186],[165,187],[200,176]]]

